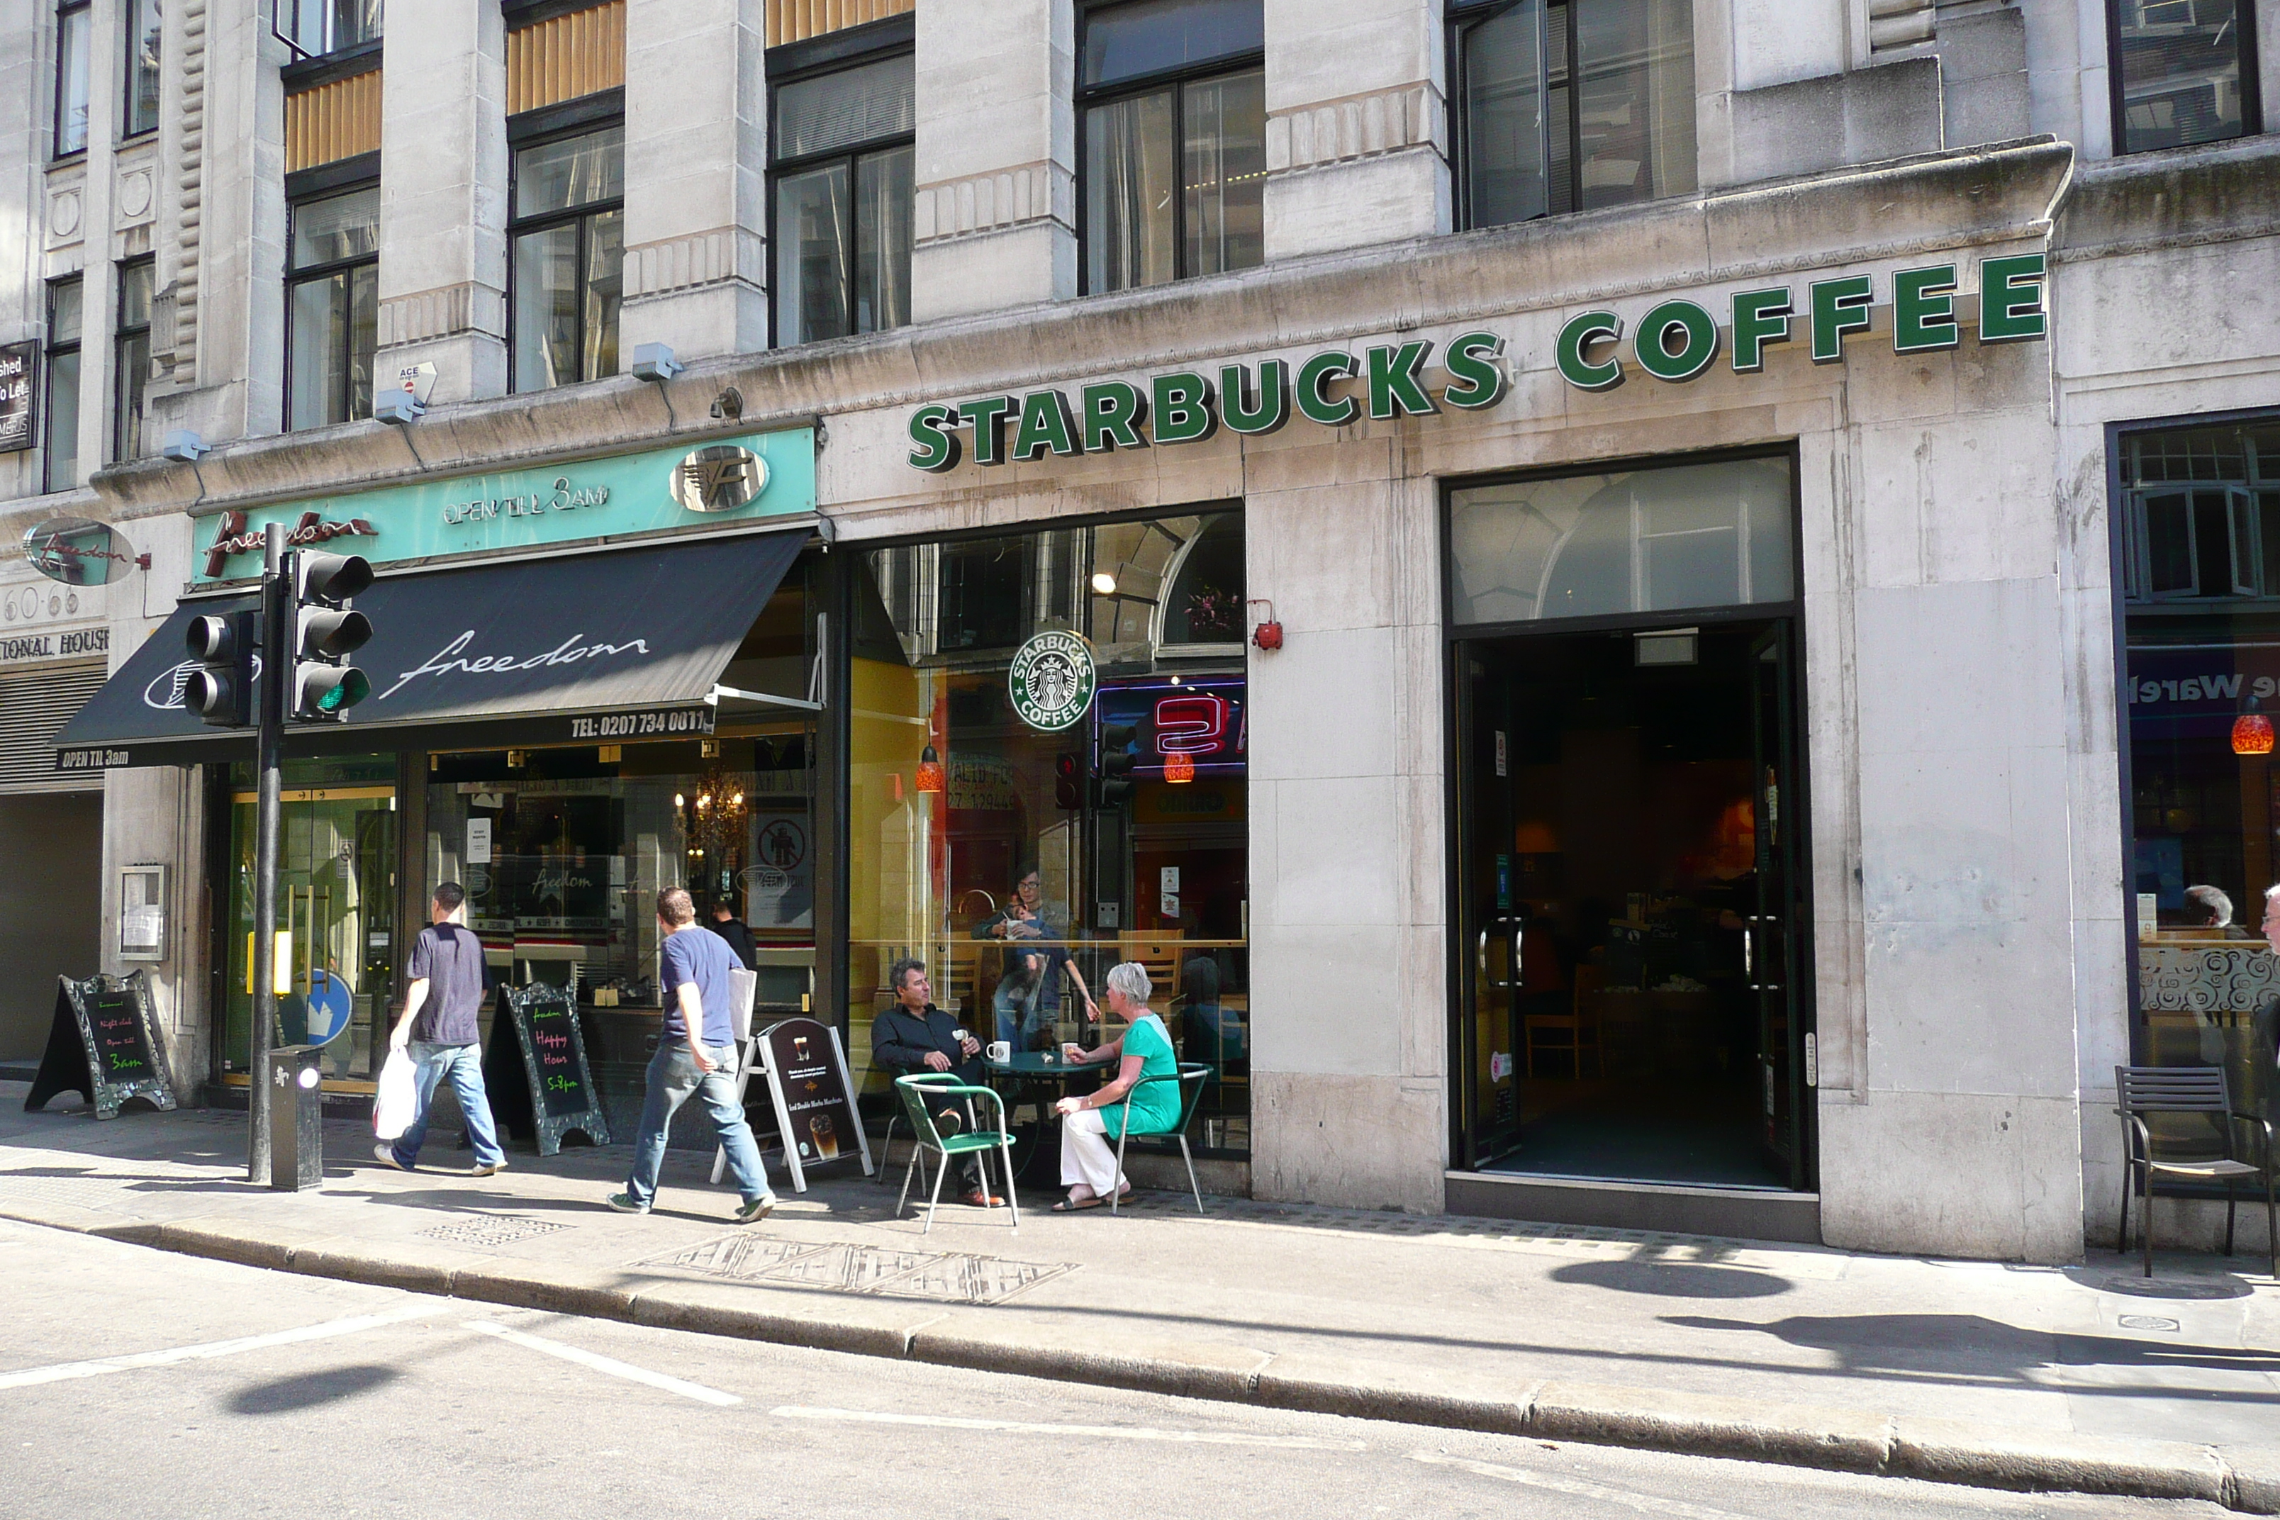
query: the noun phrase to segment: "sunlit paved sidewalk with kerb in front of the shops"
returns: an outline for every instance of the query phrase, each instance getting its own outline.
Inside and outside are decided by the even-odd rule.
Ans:
[[[244,1183],[244,1114],[23,1112],[0,1082],[0,1217],[258,1267],[987,1372],[1341,1415],[2280,1513],[2280,1288],[2259,1258],[2073,1269],[1411,1219],[1147,1192],[1124,1217],[814,1185],[752,1228],[668,1153],[657,1212],[602,1196],[629,1149],[474,1180],[326,1126],[326,1185]],[[465,1167],[431,1142],[424,1162]],[[901,1167],[894,1174],[901,1183]]]

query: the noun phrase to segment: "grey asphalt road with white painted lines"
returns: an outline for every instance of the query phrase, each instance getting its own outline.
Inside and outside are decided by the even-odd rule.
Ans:
[[[0,1515],[2223,1515],[937,1370],[0,1221]],[[14,1447],[14,1449],[11,1449]]]

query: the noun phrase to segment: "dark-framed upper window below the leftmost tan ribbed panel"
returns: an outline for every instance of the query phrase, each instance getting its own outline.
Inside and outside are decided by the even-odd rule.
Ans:
[[[285,276],[285,426],[372,415],[381,189],[296,201]]]

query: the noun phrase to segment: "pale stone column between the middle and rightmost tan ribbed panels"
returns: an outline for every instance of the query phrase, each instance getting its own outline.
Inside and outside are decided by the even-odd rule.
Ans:
[[[620,351],[768,346],[762,0],[629,0]]]

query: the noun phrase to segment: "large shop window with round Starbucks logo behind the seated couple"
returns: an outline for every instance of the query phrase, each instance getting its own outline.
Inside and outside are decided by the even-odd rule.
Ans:
[[[1229,510],[878,549],[855,574],[848,1055],[898,957],[1017,1048],[1097,1044],[1085,994],[1147,969],[1195,1139],[1249,1146],[1243,517]],[[1053,636],[1083,659],[1044,659]],[[939,770],[923,770],[926,752]],[[1019,948],[1015,948],[1019,946]],[[1106,1012],[1104,1012],[1106,1021]],[[1106,1037],[1117,1030],[1108,1028]],[[885,1089],[891,1073],[869,1071]]]

